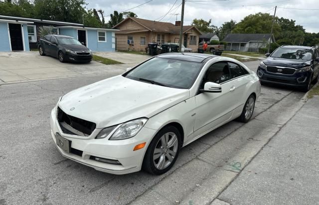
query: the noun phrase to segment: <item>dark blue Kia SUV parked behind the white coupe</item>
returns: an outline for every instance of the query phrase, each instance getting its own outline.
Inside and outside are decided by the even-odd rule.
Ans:
[[[257,69],[261,83],[282,84],[307,92],[319,80],[319,51],[315,47],[284,45],[266,53]]]

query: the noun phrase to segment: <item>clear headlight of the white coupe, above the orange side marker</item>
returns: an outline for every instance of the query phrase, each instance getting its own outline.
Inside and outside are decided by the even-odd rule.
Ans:
[[[124,140],[137,135],[143,128],[145,123],[148,121],[147,118],[140,118],[123,123],[110,137],[109,140]]]

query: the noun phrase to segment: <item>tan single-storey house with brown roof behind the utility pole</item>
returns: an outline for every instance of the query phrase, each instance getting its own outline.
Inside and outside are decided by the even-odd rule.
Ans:
[[[178,43],[180,21],[175,24],[128,17],[115,25],[116,50],[145,51],[149,42],[159,44],[165,42]],[[187,48],[197,51],[201,32],[193,25],[184,25],[182,43]]]

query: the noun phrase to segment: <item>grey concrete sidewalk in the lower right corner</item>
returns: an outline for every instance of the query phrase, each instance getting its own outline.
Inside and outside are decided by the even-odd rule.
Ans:
[[[318,204],[318,156],[319,96],[314,96],[212,204]]]

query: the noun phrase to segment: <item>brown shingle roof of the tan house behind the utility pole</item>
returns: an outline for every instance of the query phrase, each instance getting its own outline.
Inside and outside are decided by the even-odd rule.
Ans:
[[[168,22],[160,22],[160,21],[154,21],[154,20],[147,20],[143,18],[136,18],[136,17],[129,17],[133,19],[134,21],[140,23],[144,27],[155,31],[155,32],[163,32],[163,33],[179,33],[179,26],[176,26],[175,24],[168,23]],[[128,19],[128,18],[127,18]],[[123,23],[127,19],[123,20],[119,24]],[[117,24],[117,25],[119,25]],[[115,25],[113,28],[116,28],[117,25]],[[189,30],[190,28],[195,27],[193,25],[184,25],[183,26],[183,32]],[[196,27],[195,27],[196,28]],[[197,28],[196,28],[197,29]],[[198,29],[197,29],[198,30]],[[199,32],[199,31],[198,31]]]

